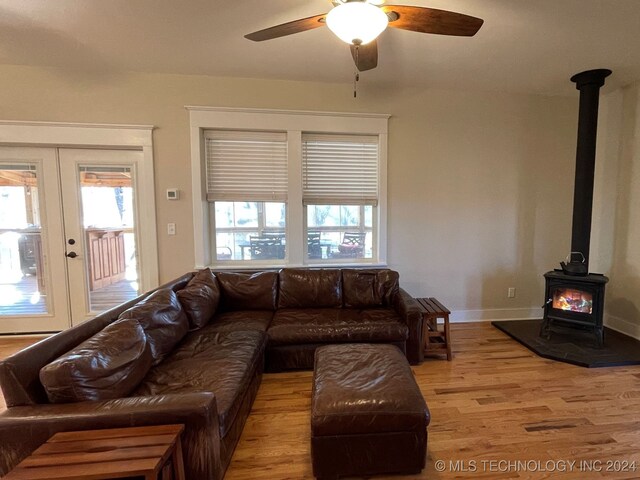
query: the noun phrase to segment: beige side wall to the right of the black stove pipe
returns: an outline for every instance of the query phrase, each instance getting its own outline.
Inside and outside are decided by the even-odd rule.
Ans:
[[[602,99],[593,251],[610,278],[605,323],[640,338],[640,84]]]

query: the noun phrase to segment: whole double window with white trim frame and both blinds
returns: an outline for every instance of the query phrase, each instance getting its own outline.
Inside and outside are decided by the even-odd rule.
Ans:
[[[384,264],[388,116],[187,108],[196,267]]]

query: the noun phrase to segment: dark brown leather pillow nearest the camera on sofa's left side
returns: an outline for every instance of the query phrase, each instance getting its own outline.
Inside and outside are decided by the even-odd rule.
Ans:
[[[152,362],[147,337],[135,319],[117,320],[40,369],[52,403],[126,397]]]

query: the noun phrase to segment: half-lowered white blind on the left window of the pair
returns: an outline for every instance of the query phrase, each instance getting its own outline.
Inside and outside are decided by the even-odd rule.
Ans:
[[[287,134],[205,132],[207,200],[287,200]]]

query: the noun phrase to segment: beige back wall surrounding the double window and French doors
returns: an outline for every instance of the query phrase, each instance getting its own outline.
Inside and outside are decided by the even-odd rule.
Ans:
[[[158,127],[163,281],[193,268],[185,105],[391,114],[389,264],[410,293],[471,320],[541,316],[542,274],[569,251],[577,99],[378,88],[366,75],[353,99],[349,84],[0,67],[0,119]],[[170,187],[179,201],[164,199]]]

